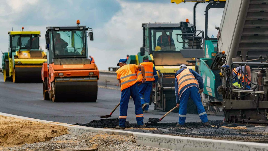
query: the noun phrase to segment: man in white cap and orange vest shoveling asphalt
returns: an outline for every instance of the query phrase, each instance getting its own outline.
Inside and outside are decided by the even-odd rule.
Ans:
[[[197,82],[197,81],[198,82]],[[199,87],[198,87],[199,85]],[[198,114],[205,126],[209,126],[207,113],[202,105],[200,93],[203,92],[204,82],[202,77],[192,69],[182,64],[175,74],[175,95],[179,110],[179,123],[177,127],[184,127],[189,96],[197,106]]]

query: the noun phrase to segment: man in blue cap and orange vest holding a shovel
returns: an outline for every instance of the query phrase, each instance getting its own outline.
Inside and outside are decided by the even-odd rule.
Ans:
[[[126,59],[120,59],[117,66],[120,66],[116,73],[121,87],[121,99],[119,125],[117,125],[116,128],[125,128],[129,96],[131,96],[134,101],[137,124],[139,125],[139,128],[145,128],[146,125],[143,123],[143,111],[139,96],[139,89],[136,84],[136,82],[141,79],[137,76],[137,74],[140,73],[139,69],[141,69],[142,82],[146,82],[144,67],[136,64],[126,64]]]

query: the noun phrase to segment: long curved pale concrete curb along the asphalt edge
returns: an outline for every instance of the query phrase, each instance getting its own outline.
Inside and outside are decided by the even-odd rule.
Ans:
[[[130,135],[135,136],[136,143],[139,145],[152,146],[183,151],[268,151],[268,144],[252,142],[223,141],[213,139],[191,138],[181,136],[148,134],[130,131],[110,130],[104,128],[92,128],[66,123],[39,120],[23,116],[1,113],[2,116],[15,117],[24,120],[38,121],[41,123],[62,125],[67,128],[68,134],[81,135],[87,132],[99,132],[111,135]]]

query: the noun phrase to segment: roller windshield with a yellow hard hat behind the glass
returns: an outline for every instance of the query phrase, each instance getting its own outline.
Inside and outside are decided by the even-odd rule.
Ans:
[[[151,28],[152,51],[180,51],[183,43],[177,42],[176,34],[181,34],[180,28]]]

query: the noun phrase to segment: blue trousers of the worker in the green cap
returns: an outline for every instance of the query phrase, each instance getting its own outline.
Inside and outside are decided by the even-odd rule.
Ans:
[[[149,109],[149,103],[150,103],[150,95],[152,91],[152,82],[153,81],[146,81],[145,83],[141,84],[139,86],[139,93],[140,93],[140,99],[142,100],[142,104],[146,104],[144,110]]]

